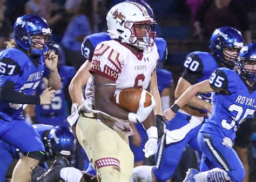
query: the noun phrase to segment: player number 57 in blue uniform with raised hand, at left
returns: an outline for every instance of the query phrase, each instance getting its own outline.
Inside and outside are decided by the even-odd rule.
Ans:
[[[26,104],[51,104],[53,93],[60,86],[58,56],[48,48],[50,36],[45,19],[24,15],[14,24],[14,40],[0,53],[0,139],[23,153],[12,181],[29,181],[31,167],[45,153],[38,133],[26,123],[22,111]],[[49,75],[44,73],[46,69]],[[41,79],[48,87],[40,96],[34,96]]]

